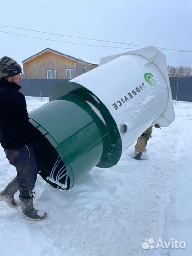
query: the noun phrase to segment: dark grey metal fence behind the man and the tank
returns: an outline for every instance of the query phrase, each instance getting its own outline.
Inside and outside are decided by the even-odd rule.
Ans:
[[[21,92],[25,96],[49,97],[51,88],[69,79],[22,79]],[[169,77],[173,100],[192,102],[192,77]]]

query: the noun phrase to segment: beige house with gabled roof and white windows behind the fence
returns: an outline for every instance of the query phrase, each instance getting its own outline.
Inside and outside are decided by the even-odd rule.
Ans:
[[[50,48],[22,63],[25,79],[72,79],[98,66],[96,63],[83,61]]]

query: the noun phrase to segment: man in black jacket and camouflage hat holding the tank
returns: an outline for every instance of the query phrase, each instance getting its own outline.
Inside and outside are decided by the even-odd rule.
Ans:
[[[29,122],[24,95],[19,92],[22,69],[13,59],[0,59],[0,143],[17,176],[0,192],[0,201],[17,208],[14,194],[19,200],[25,219],[42,220],[46,212],[33,206],[33,189],[37,180],[37,165],[33,146],[33,125]]]

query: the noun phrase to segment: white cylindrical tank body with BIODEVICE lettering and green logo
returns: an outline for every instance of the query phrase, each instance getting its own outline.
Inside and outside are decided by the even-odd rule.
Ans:
[[[167,127],[175,120],[165,55],[153,46],[101,58],[99,67],[70,82],[87,88],[109,110],[122,152],[151,125]],[[90,106],[110,126],[97,103]]]

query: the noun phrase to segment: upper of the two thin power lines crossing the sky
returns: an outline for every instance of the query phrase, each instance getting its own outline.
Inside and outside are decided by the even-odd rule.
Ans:
[[[100,41],[100,42],[107,42],[107,43],[114,43],[114,44],[123,44],[123,45],[130,45],[130,46],[148,47],[148,46],[143,46],[143,45],[128,44],[128,43],[115,42],[115,41],[108,41],[108,40],[100,40],[100,39],[93,39],[93,38],[86,38],[86,37],[75,37],[75,36],[69,36],[69,35],[63,35],[63,34],[56,34],[56,33],[50,33],[50,32],[39,31],[39,30],[33,30],[33,29],[27,29],[27,28],[21,28],[21,27],[11,27],[11,26],[3,26],[3,25],[0,25],[0,27],[16,28],[16,29],[20,29],[20,30],[38,32],[38,33],[44,33],[44,34],[50,34],[50,35],[62,36],[62,37],[73,37],[73,38],[80,38],[80,39],[85,39],[85,40],[93,40],[93,41]],[[116,47],[114,47],[114,48],[116,48]],[[172,48],[163,48],[163,47],[156,47],[156,48],[164,49],[164,50],[172,50],[172,51],[183,51],[183,52],[190,52],[190,53],[192,52],[192,51],[186,51],[186,50],[181,50],[181,49],[172,49]],[[122,49],[132,49],[132,48],[122,48]]]

